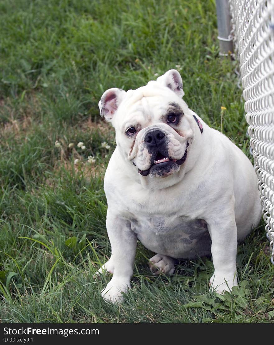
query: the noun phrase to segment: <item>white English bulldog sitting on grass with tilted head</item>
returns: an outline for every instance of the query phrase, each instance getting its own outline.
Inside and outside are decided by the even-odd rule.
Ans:
[[[136,90],[104,92],[100,115],[112,122],[116,148],[104,180],[113,277],[102,291],[123,302],[137,239],[152,252],[153,273],[172,274],[176,259],[212,254],[211,289],[237,285],[237,240],[261,218],[253,166],[182,100],[182,79],[169,70]]]

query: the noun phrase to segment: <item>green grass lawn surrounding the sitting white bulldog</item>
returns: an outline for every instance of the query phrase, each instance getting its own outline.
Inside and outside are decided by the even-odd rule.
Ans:
[[[208,292],[206,258],[152,276],[141,244],[123,305],[101,298],[109,276],[93,279],[110,255],[103,177],[115,140],[98,115],[104,90],[177,68],[190,108],[220,130],[226,107],[222,130],[249,155],[237,63],[218,56],[214,1],[2,0],[0,32],[2,322],[273,322],[263,222],[238,247],[232,294]]]

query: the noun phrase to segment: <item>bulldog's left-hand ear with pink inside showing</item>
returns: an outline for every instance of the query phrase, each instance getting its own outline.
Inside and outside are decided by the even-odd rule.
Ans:
[[[125,95],[126,91],[122,89],[112,88],[106,90],[98,103],[100,115],[111,122]]]

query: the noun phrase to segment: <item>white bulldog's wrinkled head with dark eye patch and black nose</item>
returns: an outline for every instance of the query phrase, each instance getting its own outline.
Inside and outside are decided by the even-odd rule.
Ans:
[[[169,70],[136,90],[109,89],[98,104],[100,115],[115,128],[124,159],[140,176],[157,179],[157,184],[166,177],[175,183],[174,177],[182,176],[177,173],[188,158],[193,127],[197,129],[183,95],[179,72]]]

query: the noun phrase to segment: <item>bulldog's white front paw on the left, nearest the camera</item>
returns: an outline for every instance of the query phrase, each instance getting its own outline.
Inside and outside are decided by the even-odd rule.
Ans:
[[[112,303],[123,303],[124,297],[123,293],[127,293],[130,289],[129,282],[121,282],[117,279],[111,279],[107,286],[102,290],[102,297]]]

